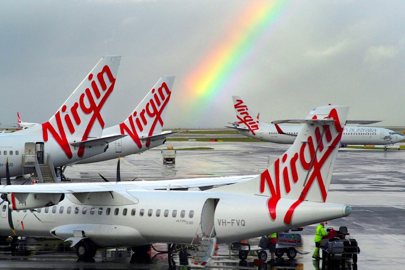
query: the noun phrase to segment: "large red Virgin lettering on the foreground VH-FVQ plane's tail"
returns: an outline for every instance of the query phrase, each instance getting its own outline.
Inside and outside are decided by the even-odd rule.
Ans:
[[[316,118],[316,116],[314,117]],[[278,201],[281,199],[281,190],[280,190],[280,178],[283,178],[283,183],[284,183],[284,189],[285,192],[288,194],[291,191],[290,187],[290,180],[292,180],[292,183],[296,183],[298,181],[298,173],[297,173],[297,161],[299,162],[300,167],[303,168],[304,171],[311,171],[311,173],[308,176],[307,182],[301,191],[301,195],[297,199],[297,201],[294,202],[288,209],[286,215],[284,216],[284,223],[286,225],[291,224],[292,220],[292,215],[294,214],[294,210],[296,207],[301,204],[304,200],[305,197],[308,194],[309,189],[311,186],[315,183],[318,182],[318,186],[320,194],[322,196],[322,200],[326,201],[326,195],[327,191],[325,189],[324,181],[322,179],[322,174],[321,174],[321,169],[325,162],[328,160],[330,154],[332,154],[333,150],[335,150],[336,147],[339,147],[339,142],[341,140],[342,134],[343,134],[343,129],[340,125],[339,117],[337,116],[337,111],[336,109],[332,109],[329,113],[329,118],[335,120],[335,130],[337,135],[333,139],[333,135],[329,130],[329,126],[325,125],[323,128],[325,129],[325,137],[326,141],[320,140],[321,139],[321,131],[319,127],[316,127],[315,129],[315,138],[312,136],[309,136],[307,138],[307,141],[304,141],[301,145],[299,153],[296,152],[292,154],[292,156],[289,158],[287,154],[284,154],[280,159],[277,159],[274,163],[274,176],[275,176],[275,185],[273,184],[273,180],[271,179],[269,170],[266,169],[260,177],[260,193],[263,193],[265,191],[265,186],[267,184],[267,187],[269,189],[269,192],[271,194],[271,197],[268,200],[267,207],[269,210],[269,214],[272,220],[276,219],[276,207]],[[333,140],[332,140],[333,139]],[[315,154],[315,150],[318,145],[318,141],[320,141],[318,150],[321,153],[320,158],[318,159],[317,154]],[[325,147],[326,145],[326,147]],[[325,151],[324,151],[325,150]],[[311,160],[305,160],[305,151],[309,152],[310,157],[314,157],[311,165]],[[324,151],[324,152],[323,152]],[[322,153],[323,152],[323,153]],[[307,155],[308,156],[308,155]],[[281,165],[280,165],[281,163]],[[298,166],[299,166],[298,165]],[[282,168],[282,169],[281,169]],[[288,170],[290,169],[291,171],[291,176],[288,173]],[[282,176],[281,176],[281,171],[282,171]],[[302,174],[301,174],[302,175]]]

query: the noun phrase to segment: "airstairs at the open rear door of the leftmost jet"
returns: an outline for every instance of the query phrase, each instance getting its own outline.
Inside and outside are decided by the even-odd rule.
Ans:
[[[35,154],[23,154],[22,159],[23,175],[25,174],[24,170],[29,172],[35,170],[38,182],[52,183],[57,181],[50,154],[47,155],[43,163],[38,162],[38,158]],[[35,180],[35,177],[32,178]]]

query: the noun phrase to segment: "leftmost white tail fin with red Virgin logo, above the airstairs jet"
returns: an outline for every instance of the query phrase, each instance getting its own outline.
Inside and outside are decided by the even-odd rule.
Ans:
[[[101,110],[113,92],[120,61],[121,56],[101,58],[49,121],[13,134],[42,135],[45,142],[54,139],[71,158],[70,142],[102,136]],[[82,156],[83,151],[84,148],[80,148],[78,156]]]

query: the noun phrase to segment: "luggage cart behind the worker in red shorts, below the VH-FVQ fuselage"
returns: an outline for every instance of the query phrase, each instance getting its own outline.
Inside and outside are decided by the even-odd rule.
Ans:
[[[277,257],[282,257],[284,253],[287,254],[287,257],[290,259],[294,259],[297,253],[300,254],[308,254],[308,252],[299,252],[296,250],[297,247],[301,247],[301,235],[300,234],[289,234],[289,233],[278,233],[277,234],[277,244],[275,255]],[[250,246],[250,244],[245,243],[232,243],[231,251],[238,252],[239,259],[244,261],[247,258],[249,253],[256,253],[259,259],[266,261],[267,259],[267,252],[266,250],[261,248],[260,246]],[[251,254],[252,255],[252,254]]]

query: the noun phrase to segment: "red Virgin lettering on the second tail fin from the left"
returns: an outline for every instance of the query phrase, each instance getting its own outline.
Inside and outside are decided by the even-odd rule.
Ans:
[[[129,127],[125,124],[125,122],[119,124],[121,134],[124,135],[127,133],[139,149],[142,148],[142,143],[138,135],[139,133],[145,133],[144,129],[150,125],[150,129],[146,132],[148,136],[151,136],[158,122],[161,126],[163,126],[161,114],[171,95],[171,91],[165,82],[163,82],[162,86],[160,86],[157,91],[153,88],[152,93],[153,99],[150,99],[149,102],[146,103],[145,108],[141,111],[134,111],[134,113],[128,117],[128,121],[130,123]],[[149,120],[146,118],[146,116],[149,116]],[[153,122],[150,124],[150,121]],[[149,147],[149,145],[150,141],[146,141],[145,146]]]

